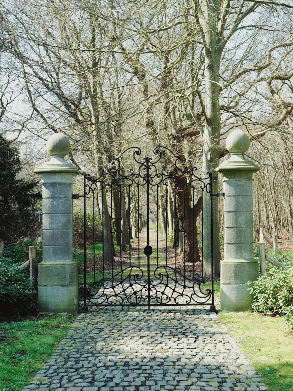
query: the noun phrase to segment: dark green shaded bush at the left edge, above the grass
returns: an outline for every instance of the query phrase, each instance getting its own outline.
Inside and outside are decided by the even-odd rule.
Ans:
[[[29,274],[18,269],[20,263],[2,258],[0,262],[0,314],[24,315],[36,308]]]

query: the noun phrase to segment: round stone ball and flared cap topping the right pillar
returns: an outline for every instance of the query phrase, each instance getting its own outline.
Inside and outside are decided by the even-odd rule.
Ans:
[[[250,146],[249,138],[241,129],[235,129],[226,140],[226,148],[231,153],[228,160],[224,161],[216,168],[218,172],[228,173],[229,171],[242,171],[247,174],[253,174],[260,170],[260,167],[255,165],[253,161],[248,160],[244,153],[248,151]],[[231,172],[232,174],[232,172]],[[225,176],[225,174],[224,174]],[[223,179],[224,181],[227,178]]]

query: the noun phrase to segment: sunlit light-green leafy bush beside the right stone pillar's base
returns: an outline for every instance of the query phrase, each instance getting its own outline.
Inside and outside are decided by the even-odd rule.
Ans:
[[[284,263],[284,262],[282,262]],[[252,309],[255,312],[285,316],[293,328],[293,269],[281,270],[269,267],[266,276],[248,282],[254,297]]]

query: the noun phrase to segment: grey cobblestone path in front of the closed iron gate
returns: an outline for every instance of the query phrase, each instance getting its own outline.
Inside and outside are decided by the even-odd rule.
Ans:
[[[24,390],[266,390],[260,381],[207,309],[108,307],[79,315]]]

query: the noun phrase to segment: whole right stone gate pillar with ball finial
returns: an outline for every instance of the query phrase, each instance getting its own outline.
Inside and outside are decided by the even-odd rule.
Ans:
[[[225,192],[221,310],[247,311],[252,304],[247,282],[258,278],[258,262],[253,254],[252,174],[259,167],[244,156],[249,138],[243,131],[237,129],[230,133],[226,147],[231,156],[216,168],[223,174]]]

